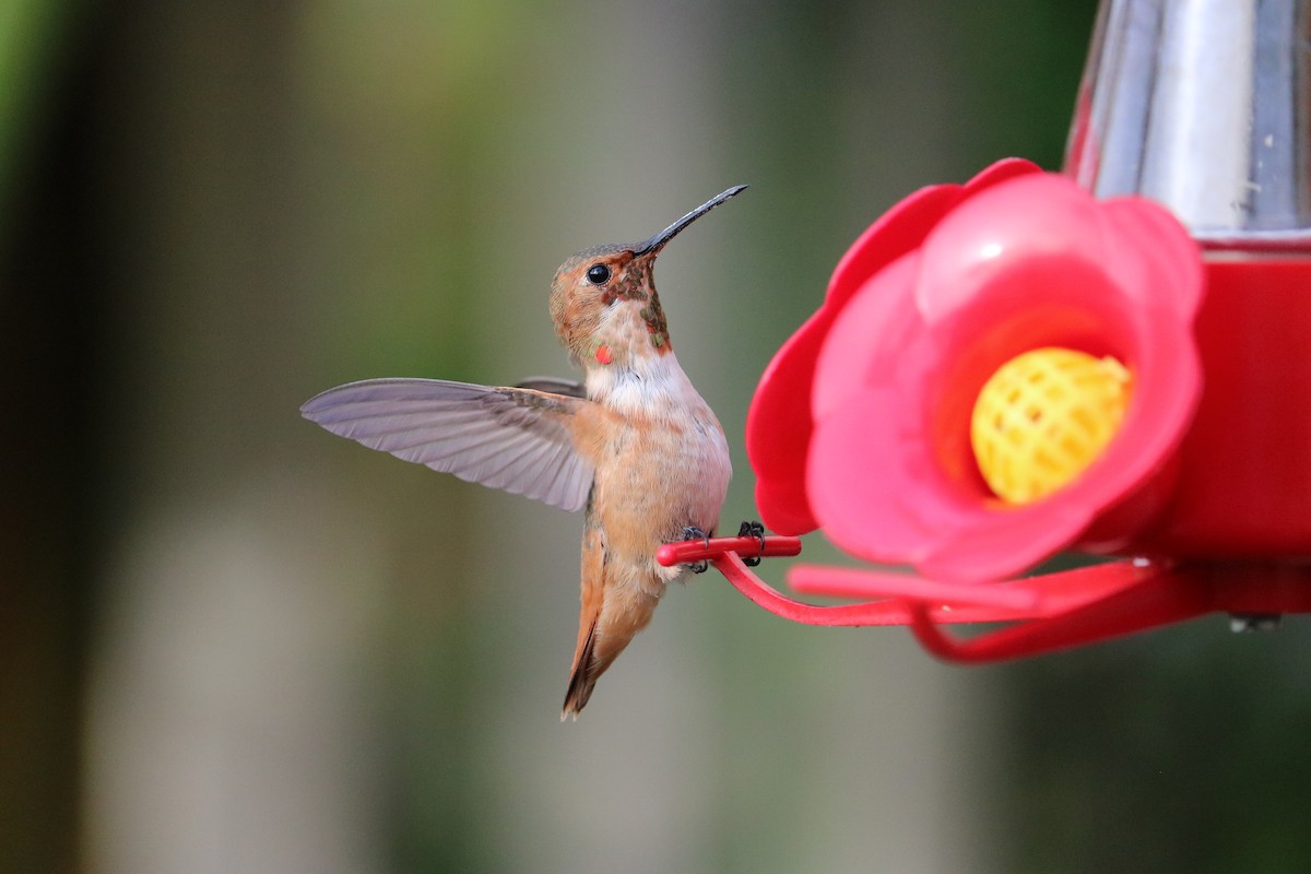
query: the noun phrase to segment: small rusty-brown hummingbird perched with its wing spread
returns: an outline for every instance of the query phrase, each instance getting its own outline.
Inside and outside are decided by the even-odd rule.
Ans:
[[[656,257],[734,186],[641,242],[570,256],[551,283],[556,334],[582,381],[517,385],[372,379],[328,389],[302,414],[333,434],[461,480],[583,511],[582,613],[561,719],[690,571],[662,544],[709,537],[732,465],[724,428],[678,364]]]

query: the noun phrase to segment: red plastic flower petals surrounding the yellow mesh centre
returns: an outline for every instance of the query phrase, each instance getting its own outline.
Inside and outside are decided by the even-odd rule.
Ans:
[[[1095,200],[1020,160],[918,191],[843,257],[762,379],[747,451],[766,524],[939,579],[1006,578],[1080,539],[1113,549],[1159,508],[1196,408],[1202,288],[1196,244],[1148,200]],[[1042,347],[1114,358],[1133,397],[1087,469],[1008,503],[970,415],[998,368]]]

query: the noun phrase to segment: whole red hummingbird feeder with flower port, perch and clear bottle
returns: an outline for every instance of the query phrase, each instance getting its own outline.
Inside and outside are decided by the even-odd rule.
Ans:
[[[857,600],[814,605],[749,570],[754,540],[659,561],[709,560],[793,621],[909,625],[970,663],[1311,612],[1308,22],[1294,0],[1104,0],[1062,176],[1007,160],[924,189],[839,262],[749,413],[758,504],[783,535],[764,554],[819,528],[916,573],[791,569],[798,594]],[[1044,349],[1074,352],[1091,388],[1062,409],[1096,439],[1007,494],[971,415]],[[1125,376],[1086,379],[1103,360]],[[1044,434],[1041,451],[1065,446]],[[1118,561],[1025,577],[1063,550]],[[945,630],[962,622],[1007,625]]]

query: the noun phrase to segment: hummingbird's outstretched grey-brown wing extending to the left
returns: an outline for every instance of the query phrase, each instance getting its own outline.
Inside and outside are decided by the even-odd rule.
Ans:
[[[564,510],[582,510],[593,468],[569,419],[590,401],[526,388],[426,379],[349,383],[302,415],[333,434]]]

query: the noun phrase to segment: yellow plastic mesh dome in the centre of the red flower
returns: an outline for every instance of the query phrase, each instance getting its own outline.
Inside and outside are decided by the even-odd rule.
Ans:
[[[998,368],[974,402],[970,444],[983,480],[1030,503],[1092,464],[1124,422],[1133,375],[1114,358],[1036,349]]]

